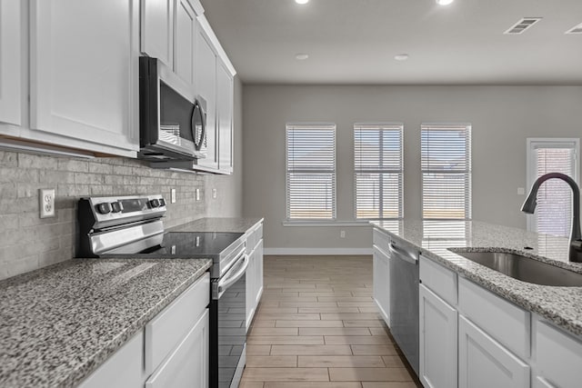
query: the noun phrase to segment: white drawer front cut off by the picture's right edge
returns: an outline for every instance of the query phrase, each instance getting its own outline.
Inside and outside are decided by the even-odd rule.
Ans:
[[[537,323],[536,340],[538,374],[557,387],[580,386],[582,343],[544,322]]]

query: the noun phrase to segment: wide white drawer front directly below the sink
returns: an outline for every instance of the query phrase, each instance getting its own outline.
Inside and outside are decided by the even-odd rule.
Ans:
[[[458,309],[508,349],[529,357],[529,312],[464,278],[458,279]]]

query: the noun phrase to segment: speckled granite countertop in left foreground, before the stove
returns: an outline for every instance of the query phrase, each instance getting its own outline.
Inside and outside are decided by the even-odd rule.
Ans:
[[[0,386],[75,386],[211,265],[75,259],[0,282]]]

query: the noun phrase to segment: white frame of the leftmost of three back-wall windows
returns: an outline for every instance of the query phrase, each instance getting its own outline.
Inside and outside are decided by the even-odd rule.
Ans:
[[[322,128],[322,129],[333,129],[334,131],[334,169],[333,169],[333,198],[332,198],[332,217],[331,218],[291,218],[290,217],[290,193],[289,193],[289,130],[293,130],[296,128],[293,127],[305,127],[305,129],[316,130],[317,126],[321,127],[329,127],[329,128]],[[299,129],[299,128],[297,128]],[[286,209],[285,209],[285,224],[321,224],[321,223],[333,223],[337,220],[337,125],[336,123],[331,122],[287,122],[285,124],[285,194],[286,194]],[[323,173],[324,171],[312,171],[312,173]],[[328,173],[328,171],[325,171]]]

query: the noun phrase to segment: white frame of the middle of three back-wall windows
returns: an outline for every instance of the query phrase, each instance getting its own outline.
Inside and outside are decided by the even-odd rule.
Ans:
[[[398,127],[397,130],[399,132],[399,151],[400,151],[400,168],[399,170],[393,170],[393,169],[381,169],[379,166],[376,169],[356,169],[356,131],[358,129],[361,128],[356,128],[356,127],[366,127],[366,126],[377,126],[379,127],[377,129],[378,132],[383,131],[383,130],[394,130],[393,128],[390,127]],[[386,127],[386,128],[381,128],[381,127]],[[395,128],[396,129],[396,128]],[[370,128],[370,130],[375,130]],[[352,131],[352,151],[354,154],[354,198],[353,198],[353,209],[354,209],[354,213],[353,213],[353,217],[354,220],[356,221],[373,221],[373,220],[377,220],[377,221],[391,221],[391,220],[402,220],[404,219],[404,123],[402,122],[364,122],[364,123],[355,123],[353,125],[353,131]],[[383,147],[379,147],[380,150],[383,149]],[[357,216],[357,180],[356,180],[356,175],[357,174],[362,174],[362,173],[369,173],[369,174],[399,174],[399,187],[398,187],[398,216],[397,217],[371,217],[371,218],[363,218],[363,217],[358,217]],[[383,193],[380,192],[380,197],[383,197]],[[382,211],[382,201],[378,200],[378,203],[380,204],[380,207],[378,209],[378,213],[377,215],[381,215]]]

